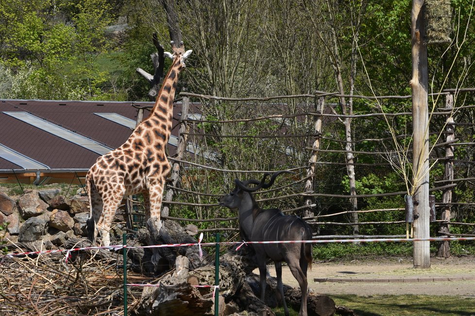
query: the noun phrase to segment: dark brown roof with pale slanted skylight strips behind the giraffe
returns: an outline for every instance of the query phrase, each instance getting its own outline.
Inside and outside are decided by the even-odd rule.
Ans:
[[[54,130],[82,135],[86,139],[79,139],[93,141],[102,145],[102,148],[117,148],[129,138],[132,129],[94,113],[117,113],[126,118],[125,121],[135,122],[137,109],[132,104],[153,106],[152,102],[0,100],[0,144],[51,170],[87,170],[100,155],[68,140],[68,137],[52,134]],[[175,104],[175,119],[179,117],[180,111],[181,106]],[[32,118],[37,124],[26,123],[12,112],[22,112],[23,118]],[[145,111],[144,117],[147,116],[148,111]],[[175,121],[173,126],[177,123]],[[177,132],[175,128],[172,134],[176,135]],[[74,136],[72,133],[69,134]],[[169,145],[170,155],[174,152],[175,148]],[[5,157],[0,156],[0,172],[25,169]]]

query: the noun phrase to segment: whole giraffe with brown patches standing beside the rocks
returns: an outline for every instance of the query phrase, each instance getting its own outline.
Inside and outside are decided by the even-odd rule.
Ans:
[[[173,46],[173,43],[172,43]],[[124,195],[142,193],[146,220],[155,217],[161,228],[160,207],[170,163],[165,148],[171,134],[173,99],[178,75],[184,69],[191,50],[174,49],[164,55],[173,59],[163,79],[150,115],[132,132],[119,148],[99,157],[86,174],[86,191],[90,216],[87,237],[95,242],[99,232],[101,244],[110,245],[109,230]]]

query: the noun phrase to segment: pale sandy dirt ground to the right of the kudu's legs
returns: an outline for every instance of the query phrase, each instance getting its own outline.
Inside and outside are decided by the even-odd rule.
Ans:
[[[275,269],[268,266],[271,276]],[[258,270],[254,271],[258,274]],[[308,287],[318,294],[451,295],[475,298],[475,281],[431,281],[407,283],[348,282],[352,279],[401,279],[417,277],[475,277],[475,257],[431,257],[430,269],[413,269],[412,258],[368,258],[352,261],[314,262],[308,271]],[[315,278],[341,278],[341,282],[315,282]],[[283,267],[284,284],[298,286],[287,266]],[[457,278],[460,279],[460,278]]]

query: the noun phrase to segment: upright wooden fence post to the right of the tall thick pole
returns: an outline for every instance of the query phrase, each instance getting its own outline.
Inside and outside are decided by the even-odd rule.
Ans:
[[[452,111],[454,108],[454,95],[447,95],[445,97],[445,111]],[[447,117],[447,122],[445,125],[445,132],[446,138],[445,141],[447,145],[445,145],[445,171],[443,175],[443,179],[446,181],[444,182],[445,185],[452,184],[452,180],[454,180],[454,145],[452,141],[455,140],[455,125],[454,125],[454,118],[451,114]],[[442,236],[446,236],[450,232],[450,210],[452,202],[452,188],[444,189],[442,192],[442,214],[441,220],[444,221],[439,228],[439,232],[442,233]],[[450,244],[448,241],[442,241],[439,245],[439,251],[437,253],[438,257],[450,257]]]

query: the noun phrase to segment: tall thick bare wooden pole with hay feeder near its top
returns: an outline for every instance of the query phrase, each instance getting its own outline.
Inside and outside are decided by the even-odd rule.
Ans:
[[[414,238],[429,237],[429,117],[424,0],[412,0],[412,126]],[[429,241],[413,244],[414,268],[430,268]]]

